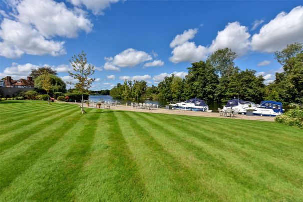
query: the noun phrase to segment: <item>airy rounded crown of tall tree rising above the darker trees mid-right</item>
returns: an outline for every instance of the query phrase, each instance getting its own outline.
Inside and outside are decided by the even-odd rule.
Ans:
[[[235,66],[237,54],[230,48],[218,49],[208,57],[208,62],[215,68],[220,77],[229,77]]]

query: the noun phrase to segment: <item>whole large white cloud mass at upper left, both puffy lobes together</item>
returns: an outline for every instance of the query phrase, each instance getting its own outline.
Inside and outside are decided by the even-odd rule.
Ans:
[[[67,8],[64,2],[23,0],[8,4],[14,13],[0,24],[0,55],[4,57],[66,54],[64,41],[51,38],[76,37],[78,31],[90,32],[93,26],[83,12]]]

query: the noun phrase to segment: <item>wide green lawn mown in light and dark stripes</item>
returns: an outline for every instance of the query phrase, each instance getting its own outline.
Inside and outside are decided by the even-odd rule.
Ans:
[[[303,130],[0,103],[0,201],[303,201]]]

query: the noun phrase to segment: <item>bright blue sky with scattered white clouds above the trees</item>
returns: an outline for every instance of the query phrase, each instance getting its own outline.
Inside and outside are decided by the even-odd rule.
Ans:
[[[96,67],[92,89],[157,85],[229,47],[268,83],[281,71],[273,53],[294,42],[303,42],[303,1],[0,1],[0,77],[13,79],[48,65],[71,81],[69,59],[83,50]]]

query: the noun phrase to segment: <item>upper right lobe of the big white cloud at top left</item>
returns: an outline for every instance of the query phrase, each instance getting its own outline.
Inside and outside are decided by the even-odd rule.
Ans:
[[[82,13],[69,10],[63,2],[53,0],[23,0],[16,10],[18,20],[32,24],[44,37],[76,37],[79,30],[90,32],[92,23]]]

